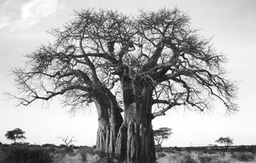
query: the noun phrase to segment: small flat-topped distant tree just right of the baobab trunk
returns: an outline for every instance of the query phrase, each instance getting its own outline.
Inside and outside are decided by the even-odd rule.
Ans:
[[[172,134],[172,129],[169,129],[168,127],[162,127],[154,131],[154,139],[157,145],[159,146],[161,153],[162,153],[162,143],[164,139],[168,139],[171,134]]]

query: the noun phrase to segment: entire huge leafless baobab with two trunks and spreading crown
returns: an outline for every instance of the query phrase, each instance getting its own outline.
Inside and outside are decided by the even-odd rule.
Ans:
[[[25,68],[13,70],[20,92],[11,96],[24,105],[61,96],[72,110],[95,103],[100,152],[126,162],[156,162],[154,118],[181,106],[210,110],[216,99],[228,113],[237,110],[225,56],[177,8],[136,17],[76,11],[51,34],[54,43],[40,46],[26,56]]]

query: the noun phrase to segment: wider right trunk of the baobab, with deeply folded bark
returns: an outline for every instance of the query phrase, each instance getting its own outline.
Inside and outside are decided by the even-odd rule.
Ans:
[[[141,97],[135,97],[131,94],[132,90],[124,90],[124,122],[116,140],[118,159],[127,163],[155,163],[150,101],[152,93],[145,88]]]

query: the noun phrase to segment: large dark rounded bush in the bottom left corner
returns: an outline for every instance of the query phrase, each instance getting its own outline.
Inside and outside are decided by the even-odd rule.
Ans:
[[[3,155],[0,163],[51,163],[52,157],[48,150],[41,146],[31,145],[10,145],[3,148]]]

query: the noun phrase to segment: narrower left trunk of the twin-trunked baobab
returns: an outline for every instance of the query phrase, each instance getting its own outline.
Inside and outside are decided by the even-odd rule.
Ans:
[[[98,112],[97,150],[102,153],[115,153],[116,138],[123,119],[115,96],[100,94],[93,97]]]

